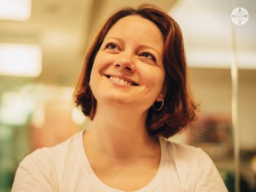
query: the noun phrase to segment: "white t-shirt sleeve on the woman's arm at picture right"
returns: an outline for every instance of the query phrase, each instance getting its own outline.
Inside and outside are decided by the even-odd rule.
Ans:
[[[228,190],[212,159],[200,149],[195,192],[201,191],[227,192]]]

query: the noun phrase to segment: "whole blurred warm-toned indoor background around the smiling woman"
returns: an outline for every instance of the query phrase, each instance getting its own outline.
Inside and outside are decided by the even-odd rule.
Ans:
[[[191,129],[170,140],[203,148],[228,191],[256,191],[256,1],[0,0],[0,192],[27,154],[88,127],[72,102],[86,51],[111,13],[141,3],[180,24],[200,103]],[[238,7],[244,25],[232,23]]]

